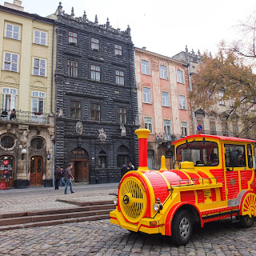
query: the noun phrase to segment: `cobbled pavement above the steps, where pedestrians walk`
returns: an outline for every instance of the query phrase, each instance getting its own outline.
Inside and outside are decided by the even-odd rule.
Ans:
[[[0,213],[78,207],[56,202],[57,199],[82,202],[113,200],[113,194],[118,193],[118,183],[73,186],[73,190],[75,193],[70,194],[68,188],[69,194],[65,195],[64,186],[59,190],[54,190],[54,187],[0,190]]]

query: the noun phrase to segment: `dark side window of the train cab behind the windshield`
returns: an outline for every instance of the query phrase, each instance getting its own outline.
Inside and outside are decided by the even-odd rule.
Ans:
[[[244,167],[245,161],[245,146],[225,144],[225,162],[226,167]]]

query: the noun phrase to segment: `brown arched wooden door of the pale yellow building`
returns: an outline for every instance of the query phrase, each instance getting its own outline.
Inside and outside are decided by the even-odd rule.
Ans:
[[[30,159],[30,186],[42,186],[42,172],[42,157],[32,157]]]

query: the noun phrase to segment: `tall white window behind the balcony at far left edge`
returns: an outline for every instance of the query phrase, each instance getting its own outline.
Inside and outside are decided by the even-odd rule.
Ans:
[[[17,108],[17,89],[2,88],[1,95],[2,110],[13,110]]]

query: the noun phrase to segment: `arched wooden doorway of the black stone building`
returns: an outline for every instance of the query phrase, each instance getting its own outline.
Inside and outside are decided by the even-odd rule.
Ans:
[[[89,162],[88,153],[81,147],[77,147],[70,152],[70,163],[73,168],[71,170],[74,176],[74,182],[89,181]]]

